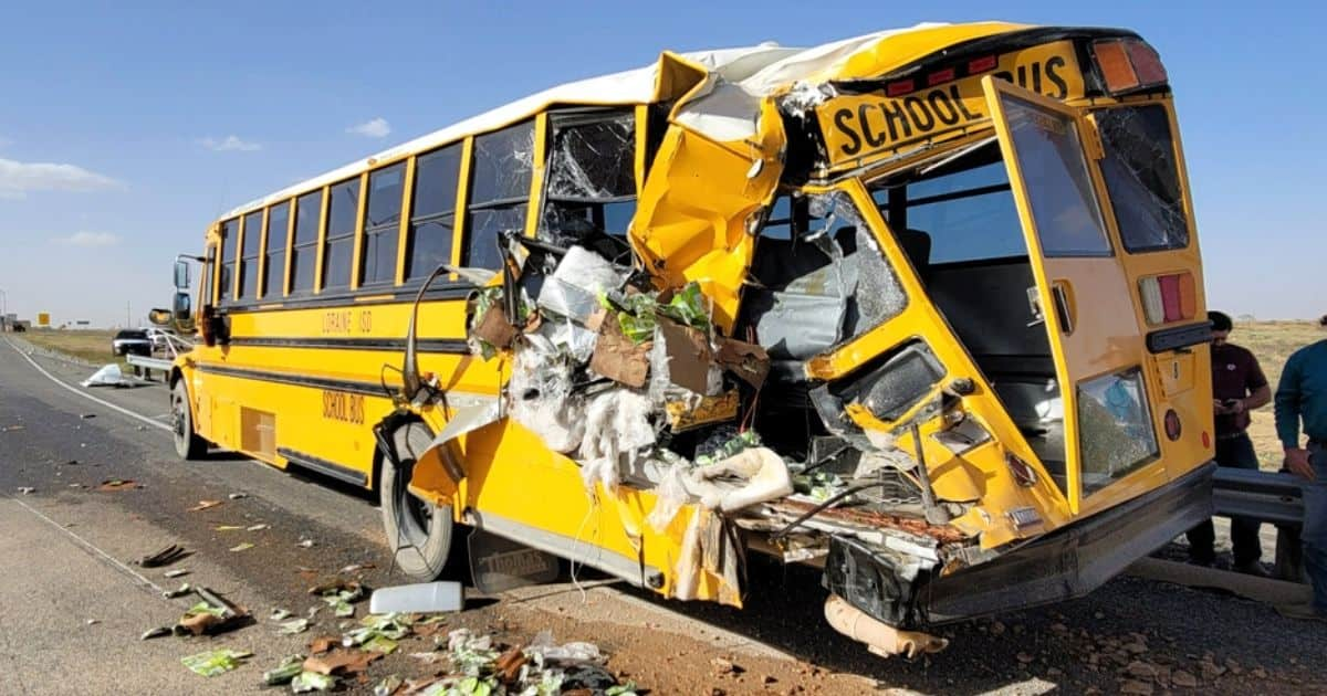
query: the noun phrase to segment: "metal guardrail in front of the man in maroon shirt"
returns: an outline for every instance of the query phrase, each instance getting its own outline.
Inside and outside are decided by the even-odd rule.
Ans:
[[[1283,472],[1218,467],[1212,488],[1213,513],[1277,525],[1274,575],[1303,582],[1299,526],[1304,516],[1300,481]]]

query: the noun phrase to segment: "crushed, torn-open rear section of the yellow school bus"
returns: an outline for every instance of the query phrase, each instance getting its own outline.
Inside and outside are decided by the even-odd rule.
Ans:
[[[1140,37],[928,25],[654,78],[645,137],[541,125],[540,220],[496,274],[450,268],[503,386],[407,374],[414,494],[682,599],[740,605],[747,550],[813,563],[881,654],[1210,514],[1201,262]]]

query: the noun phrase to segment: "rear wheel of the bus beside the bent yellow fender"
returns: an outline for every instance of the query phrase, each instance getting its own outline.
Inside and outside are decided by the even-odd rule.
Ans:
[[[406,423],[391,434],[399,461],[381,453],[378,500],[387,544],[395,549],[397,565],[407,575],[431,581],[442,574],[451,553],[451,505],[434,505],[410,494],[406,487],[415,459],[429,448],[433,435],[423,423]]]

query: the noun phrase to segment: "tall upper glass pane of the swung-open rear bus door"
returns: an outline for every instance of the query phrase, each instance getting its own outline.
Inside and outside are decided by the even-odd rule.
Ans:
[[[1010,139],[1046,256],[1109,256],[1087,156],[1071,117],[1001,95]]]

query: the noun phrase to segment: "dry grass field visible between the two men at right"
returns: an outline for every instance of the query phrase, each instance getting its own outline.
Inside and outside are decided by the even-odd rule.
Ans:
[[[1253,351],[1262,366],[1273,392],[1281,380],[1281,370],[1286,365],[1290,354],[1308,343],[1327,338],[1318,322],[1311,321],[1254,321],[1235,322],[1235,330],[1230,333],[1230,342]],[[1249,436],[1258,451],[1258,460],[1263,469],[1275,471],[1281,468],[1283,459],[1281,441],[1277,439],[1277,424],[1273,418],[1271,404],[1253,412],[1253,426],[1249,427]]]

